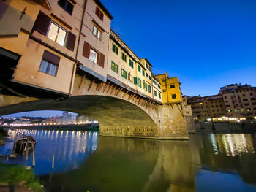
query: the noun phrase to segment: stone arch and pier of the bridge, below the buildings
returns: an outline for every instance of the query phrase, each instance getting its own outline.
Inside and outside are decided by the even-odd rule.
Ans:
[[[182,104],[158,104],[110,81],[97,82],[93,77],[76,74],[69,96],[15,86],[15,91],[1,86],[0,115],[64,110],[98,120],[99,134],[105,136],[188,139]]]

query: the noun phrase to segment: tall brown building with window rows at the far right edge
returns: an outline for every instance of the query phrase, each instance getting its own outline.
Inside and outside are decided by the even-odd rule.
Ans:
[[[219,93],[224,99],[228,117],[256,116],[256,87],[247,84],[231,84],[220,88]]]

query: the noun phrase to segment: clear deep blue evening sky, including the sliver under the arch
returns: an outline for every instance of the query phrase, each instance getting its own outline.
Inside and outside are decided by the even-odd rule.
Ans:
[[[101,1],[114,17],[111,28],[148,58],[154,74],[178,77],[183,94],[217,94],[236,82],[256,86],[255,0]]]

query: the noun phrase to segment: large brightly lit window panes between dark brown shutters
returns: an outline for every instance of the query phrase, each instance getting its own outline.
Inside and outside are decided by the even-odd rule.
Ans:
[[[50,23],[48,38],[52,39],[54,42],[58,42],[59,45],[64,46],[66,35],[67,31],[64,31],[64,29],[59,27],[56,23]]]

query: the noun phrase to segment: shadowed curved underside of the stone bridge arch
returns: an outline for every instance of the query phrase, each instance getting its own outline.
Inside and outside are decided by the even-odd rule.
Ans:
[[[61,101],[41,99],[23,102],[1,107],[0,115],[34,110],[77,112],[98,120],[102,126],[156,126],[154,120],[140,107],[110,96],[72,96]]]

